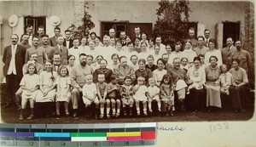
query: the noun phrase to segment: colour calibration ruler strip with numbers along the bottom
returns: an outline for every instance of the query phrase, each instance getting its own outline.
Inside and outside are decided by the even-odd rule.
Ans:
[[[0,124],[0,146],[154,145],[156,123]]]

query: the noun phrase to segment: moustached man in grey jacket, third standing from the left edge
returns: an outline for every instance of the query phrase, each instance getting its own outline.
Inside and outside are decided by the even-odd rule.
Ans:
[[[28,48],[26,50],[25,62],[28,61],[29,56],[31,54],[36,53],[36,54],[38,54],[38,63],[41,64],[41,65],[44,65],[45,60],[48,59],[47,54],[46,54],[44,48],[39,48],[38,43],[39,43],[39,38],[38,37],[33,37],[32,48]]]

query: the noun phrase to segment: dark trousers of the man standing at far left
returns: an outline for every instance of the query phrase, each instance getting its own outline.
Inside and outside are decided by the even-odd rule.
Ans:
[[[11,102],[15,102],[16,105],[19,105],[17,99],[15,98],[15,93],[20,88],[20,81],[22,76],[11,74],[11,75],[6,75],[5,78],[6,78],[6,90],[5,90],[6,103],[9,105]]]

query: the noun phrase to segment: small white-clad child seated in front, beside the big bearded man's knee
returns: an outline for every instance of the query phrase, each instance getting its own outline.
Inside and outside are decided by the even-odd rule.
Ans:
[[[96,105],[96,113],[95,119],[98,119],[98,112],[99,112],[99,99],[97,98],[97,88],[96,84],[92,82],[92,75],[85,76],[86,83],[83,87],[83,101],[85,105],[85,111],[88,112],[88,116],[90,116],[90,105],[95,103]]]

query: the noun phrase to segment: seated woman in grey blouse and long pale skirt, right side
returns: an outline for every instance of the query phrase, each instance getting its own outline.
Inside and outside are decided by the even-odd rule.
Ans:
[[[218,58],[216,56],[211,56],[209,62],[211,65],[208,65],[205,71],[207,75],[207,107],[208,111],[211,111],[212,108],[221,108],[220,87],[218,81],[220,69],[217,65]]]

